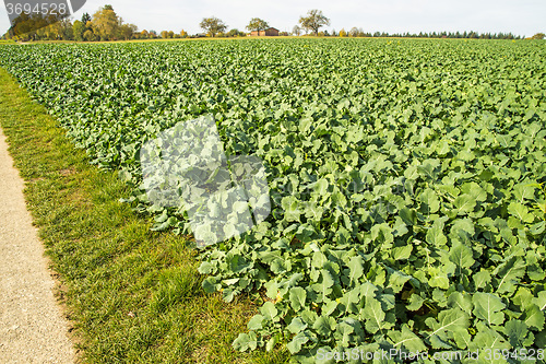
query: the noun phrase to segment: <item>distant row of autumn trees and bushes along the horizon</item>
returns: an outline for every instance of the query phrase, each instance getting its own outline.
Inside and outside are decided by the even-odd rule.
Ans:
[[[477,33],[477,32],[419,32],[416,33],[385,33],[385,32],[365,32],[361,27],[353,27],[348,32],[342,28],[339,33],[333,30],[320,31],[320,28],[330,25],[322,11],[309,10],[306,15],[299,17],[290,33],[280,32],[281,36],[332,36],[332,37],[400,37],[400,38],[468,38],[468,39],[521,39],[522,36],[512,33]],[[189,35],[186,31],[175,33],[173,31],[162,31],[159,33],[151,30],[138,31],[136,25],[124,23],[123,20],[114,11],[111,5],[100,8],[93,16],[84,13],[81,20],[73,23],[69,19],[56,19],[55,16],[41,14],[33,15],[22,13],[14,22],[13,26],[2,38],[4,39],[25,39],[25,40],[129,40],[129,39],[154,39],[154,38],[187,38],[187,37],[241,37],[248,33],[237,28],[229,31],[227,24],[218,17],[204,17],[200,27],[204,33]],[[252,17],[246,30],[248,32],[260,32],[269,28],[266,21]],[[544,34],[537,33],[532,38],[543,39]]]

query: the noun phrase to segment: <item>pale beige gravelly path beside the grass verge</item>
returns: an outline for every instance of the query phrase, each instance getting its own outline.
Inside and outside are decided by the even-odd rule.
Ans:
[[[23,180],[0,129],[0,363],[73,363]]]

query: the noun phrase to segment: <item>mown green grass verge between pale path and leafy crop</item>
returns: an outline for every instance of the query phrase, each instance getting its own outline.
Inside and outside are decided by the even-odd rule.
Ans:
[[[62,129],[0,69],[0,126],[85,363],[284,363],[286,351],[232,349],[256,307],[201,289],[183,238],[153,233],[118,200],[116,173],[90,165]]]

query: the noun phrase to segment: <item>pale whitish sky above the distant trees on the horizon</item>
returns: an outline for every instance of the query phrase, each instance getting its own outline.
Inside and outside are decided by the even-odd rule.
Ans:
[[[209,16],[239,31],[245,31],[251,17],[261,17],[270,26],[290,32],[310,9],[322,10],[330,19],[331,25],[323,30],[337,32],[356,26],[370,33],[474,31],[527,37],[546,33],[545,0],[87,0],[73,17],[80,19],[84,12],[93,15],[107,3],[124,22],[157,33],[182,28],[200,33],[199,23]],[[0,34],[9,27],[7,10],[0,7]]]

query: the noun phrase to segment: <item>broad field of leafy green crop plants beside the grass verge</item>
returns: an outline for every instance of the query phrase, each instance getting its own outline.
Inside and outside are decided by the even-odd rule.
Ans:
[[[204,291],[259,305],[235,350],[544,363],[544,43],[4,45],[0,66],[154,231],[191,233],[141,188],[162,130],[212,115],[227,155],[264,161],[269,218],[198,250]]]

